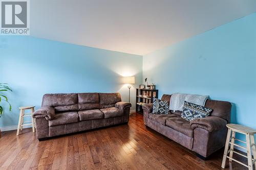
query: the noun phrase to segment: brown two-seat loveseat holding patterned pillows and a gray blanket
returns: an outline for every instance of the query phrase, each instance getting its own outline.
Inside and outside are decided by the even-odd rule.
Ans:
[[[169,102],[170,96],[163,94],[162,100]],[[144,124],[205,159],[225,145],[231,104],[208,99],[205,107],[213,109],[210,116],[188,122],[181,118],[180,111],[152,114],[153,104],[143,104]]]

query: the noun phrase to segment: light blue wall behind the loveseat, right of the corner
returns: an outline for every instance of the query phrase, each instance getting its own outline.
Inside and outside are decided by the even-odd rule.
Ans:
[[[143,56],[159,96],[209,94],[232,103],[231,121],[256,129],[256,13]]]

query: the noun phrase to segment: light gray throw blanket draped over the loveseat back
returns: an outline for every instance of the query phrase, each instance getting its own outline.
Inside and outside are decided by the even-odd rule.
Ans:
[[[208,98],[209,98],[209,95],[174,93],[170,98],[170,110],[182,111],[184,101],[189,103],[194,103],[196,105],[204,106]]]

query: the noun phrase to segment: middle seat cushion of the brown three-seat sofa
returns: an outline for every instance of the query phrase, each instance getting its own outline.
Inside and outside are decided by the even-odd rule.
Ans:
[[[80,121],[104,118],[104,114],[99,109],[79,111],[78,116]]]

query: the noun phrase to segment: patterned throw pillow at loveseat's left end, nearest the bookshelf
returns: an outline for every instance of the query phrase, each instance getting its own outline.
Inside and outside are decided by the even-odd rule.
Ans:
[[[153,113],[154,114],[169,114],[169,104],[167,101],[153,98]]]

